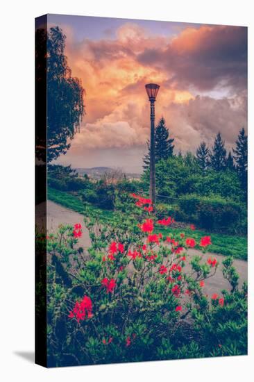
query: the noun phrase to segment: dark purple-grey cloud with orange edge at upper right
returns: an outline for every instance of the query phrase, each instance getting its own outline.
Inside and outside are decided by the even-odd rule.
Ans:
[[[186,28],[167,47],[144,49],[137,60],[167,70],[169,85],[198,90],[223,85],[242,90],[247,81],[247,28]]]

